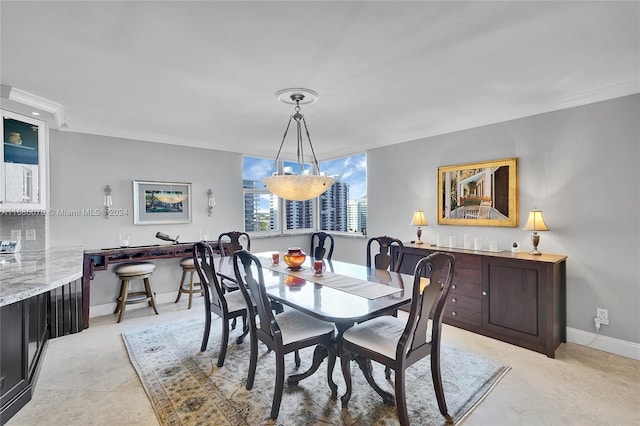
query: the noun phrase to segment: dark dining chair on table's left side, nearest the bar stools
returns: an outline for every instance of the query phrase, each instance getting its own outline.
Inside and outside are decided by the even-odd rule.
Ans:
[[[193,245],[193,263],[204,291],[205,324],[200,350],[204,352],[207,349],[211,330],[211,314],[216,314],[222,318],[222,338],[218,353],[218,367],[222,367],[229,342],[229,321],[242,317],[242,335],[236,339],[236,343],[242,343],[249,333],[247,303],[239,291],[225,293],[222,290],[214,266],[214,252],[209,244],[195,243]],[[235,321],[231,329],[235,329]]]

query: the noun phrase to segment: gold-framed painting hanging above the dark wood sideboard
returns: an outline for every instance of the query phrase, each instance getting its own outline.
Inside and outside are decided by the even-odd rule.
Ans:
[[[518,159],[438,167],[438,223],[518,226]]]

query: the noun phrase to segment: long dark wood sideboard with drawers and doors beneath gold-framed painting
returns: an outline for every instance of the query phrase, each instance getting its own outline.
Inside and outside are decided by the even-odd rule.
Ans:
[[[567,341],[567,256],[488,252],[404,243],[400,272],[434,251],[455,257],[444,322],[555,358]],[[392,250],[394,260],[397,248]]]

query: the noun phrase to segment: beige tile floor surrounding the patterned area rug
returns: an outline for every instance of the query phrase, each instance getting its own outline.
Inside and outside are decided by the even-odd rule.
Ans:
[[[8,423],[19,425],[157,425],[129,362],[121,333],[200,316],[202,299],[92,318],[81,333],[53,339],[33,399]],[[463,422],[475,425],[640,425],[640,361],[576,344],[556,358],[444,326],[446,344],[511,366]]]

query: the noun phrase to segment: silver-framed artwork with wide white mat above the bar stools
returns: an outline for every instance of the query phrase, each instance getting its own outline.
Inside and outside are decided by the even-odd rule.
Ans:
[[[133,224],[191,223],[191,184],[133,181]]]

